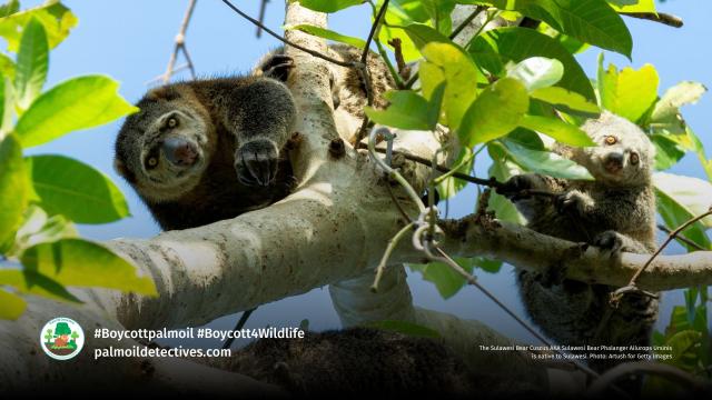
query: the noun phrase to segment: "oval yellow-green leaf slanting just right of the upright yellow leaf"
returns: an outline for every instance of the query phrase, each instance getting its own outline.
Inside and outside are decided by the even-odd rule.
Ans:
[[[473,147],[507,134],[521,123],[528,107],[526,88],[518,80],[496,81],[467,109],[457,131],[461,143]]]

